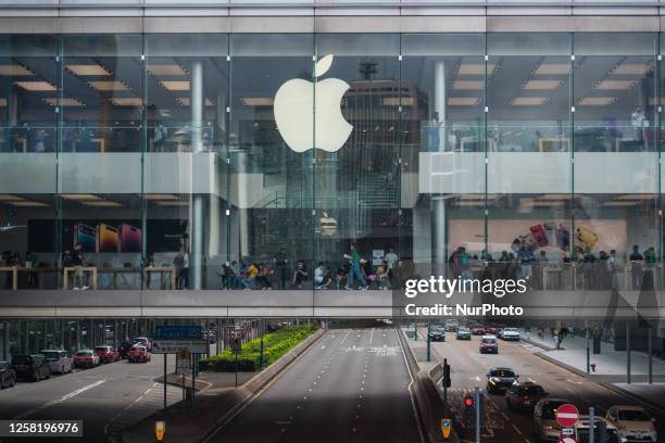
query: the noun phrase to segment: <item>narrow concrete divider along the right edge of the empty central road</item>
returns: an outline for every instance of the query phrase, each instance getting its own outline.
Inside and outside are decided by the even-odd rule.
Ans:
[[[434,365],[429,369],[422,369],[418,365],[409,342],[404,336],[404,331],[400,328],[398,337],[402,343],[402,349],[406,357],[406,364],[413,375],[413,396],[418,412],[418,420],[426,443],[434,442],[452,442],[459,443],[460,440],[454,430],[451,431],[450,438],[443,440],[441,433],[441,419],[452,418],[447,413],[446,404],[439,395],[437,380],[443,377],[443,367],[440,364]],[[447,417],[448,416],[448,417]]]

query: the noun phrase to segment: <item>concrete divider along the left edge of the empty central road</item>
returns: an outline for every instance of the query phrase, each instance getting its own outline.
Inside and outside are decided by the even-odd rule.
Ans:
[[[166,421],[166,436],[170,443],[208,441],[271,380],[287,369],[325,333],[323,329],[317,330],[238,389],[211,388],[205,390],[204,394],[196,397],[193,407],[186,414],[183,414],[181,402],[178,402],[167,407],[166,410],[160,410],[140,420],[123,432],[123,443],[153,443],[155,420]]]

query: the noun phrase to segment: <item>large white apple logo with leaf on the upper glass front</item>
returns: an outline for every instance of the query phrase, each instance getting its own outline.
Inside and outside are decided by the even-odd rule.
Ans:
[[[324,75],[331,64],[332,54],[321,59],[314,68],[314,76],[318,78]],[[324,151],[338,151],[353,130],[339,105],[349,88],[349,84],[339,78],[316,81],[316,96],[314,85],[301,78],[293,78],[281,85],[275,94],[273,110],[277,129],[289,148],[296,152],[304,152],[314,144],[314,148]],[[314,97],[316,121],[313,116]]]

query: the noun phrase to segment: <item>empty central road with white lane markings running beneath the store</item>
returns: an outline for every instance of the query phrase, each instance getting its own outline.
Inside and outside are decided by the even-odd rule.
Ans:
[[[397,330],[330,330],[212,442],[422,442]]]

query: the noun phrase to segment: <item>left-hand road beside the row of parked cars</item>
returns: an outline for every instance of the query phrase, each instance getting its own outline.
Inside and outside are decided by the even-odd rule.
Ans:
[[[77,442],[120,442],[120,431],[163,405],[163,385],[153,379],[162,375],[162,356],[153,355],[146,364],[125,360],[93,369],[53,376],[40,382],[20,382],[0,391],[2,419],[81,419],[84,439]],[[168,370],[173,371],[172,365]],[[168,403],[181,398],[181,391],[168,387]],[[28,443],[57,439],[1,439],[2,442]]]

